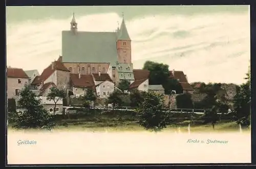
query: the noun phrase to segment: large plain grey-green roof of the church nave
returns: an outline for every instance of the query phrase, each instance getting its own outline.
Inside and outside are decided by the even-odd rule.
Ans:
[[[62,31],[62,62],[116,65],[117,59],[115,32]]]

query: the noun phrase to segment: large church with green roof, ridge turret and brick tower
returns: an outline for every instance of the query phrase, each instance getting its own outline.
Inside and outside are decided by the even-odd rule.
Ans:
[[[75,15],[70,30],[62,31],[62,55],[58,61],[73,74],[105,74],[117,86],[120,80],[134,82],[131,38],[124,18],[115,32],[78,30]]]

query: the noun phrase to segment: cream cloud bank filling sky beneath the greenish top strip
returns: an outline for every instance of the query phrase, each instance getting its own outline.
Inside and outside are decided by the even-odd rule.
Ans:
[[[41,72],[61,55],[61,31],[70,18],[7,24],[7,65]],[[116,13],[76,16],[80,31],[115,31]],[[238,24],[239,23],[239,24]],[[242,83],[250,59],[248,13],[145,15],[126,20],[134,68],[146,60],[183,70],[192,81]]]

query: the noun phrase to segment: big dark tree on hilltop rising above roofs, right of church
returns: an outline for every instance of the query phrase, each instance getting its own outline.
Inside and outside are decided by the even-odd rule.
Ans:
[[[152,61],[146,61],[143,69],[150,71],[150,85],[162,85],[165,94],[172,94],[172,91],[175,90],[177,94],[182,93],[182,87],[180,83],[174,79],[169,78],[169,66],[164,64],[159,64]]]

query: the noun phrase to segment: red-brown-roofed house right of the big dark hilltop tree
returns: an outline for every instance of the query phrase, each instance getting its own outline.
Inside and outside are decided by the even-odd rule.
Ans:
[[[170,73],[169,78],[174,78],[179,81],[179,83],[183,89],[183,93],[193,93],[194,92],[193,88],[188,83],[187,76],[184,74],[183,71],[173,70],[173,71],[169,71],[169,73]]]

